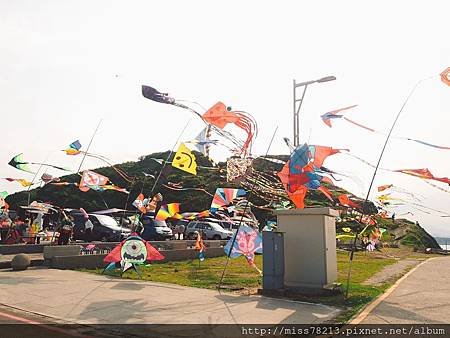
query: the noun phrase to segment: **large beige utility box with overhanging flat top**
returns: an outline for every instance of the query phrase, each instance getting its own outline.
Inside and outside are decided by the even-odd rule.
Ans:
[[[275,214],[278,230],[285,233],[285,288],[314,292],[335,283],[338,211],[306,208],[277,210]]]

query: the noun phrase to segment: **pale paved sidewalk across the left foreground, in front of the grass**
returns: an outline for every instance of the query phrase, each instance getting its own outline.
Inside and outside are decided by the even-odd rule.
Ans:
[[[0,303],[81,324],[323,323],[334,307],[70,270],[0,271]]]

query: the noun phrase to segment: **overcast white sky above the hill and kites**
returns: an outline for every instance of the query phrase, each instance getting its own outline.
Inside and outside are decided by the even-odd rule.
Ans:
[[[0,0],[0,176],[32,178],[7,165],[20,152],[75,169],[80,159],[60,150],[75,139],[86,147],[100,119],[94,153],[122,162],[170,149],[192,115],[144,99],[141,84],[251,112],[259,126],[253,152],[265,153],[278,126],[271,153],[287,154],[292,80],[335,75],[309,87],[302,140],[376,162],[383,137],[344,121],[329,129],[320,115],[358,104],[350,118],[387,131],[415,83],[433,76],[394,134],[450,146],[450,88],[439,80],[450,66],[449,11],[448,1]],[[182,139],[202,126],[194,117]],[[226,157],[223,149],[213,156]],[[392,140],[382,166],[450,176],[449,160],[450,151]],[[84,168],[100,165],[86,161]],[[363,184],[339,184],[365,195],[372,169],[345,155],[325,165],[358,177]],[[380,172],[375,183],[393,183],[450,213],[450,194],[420,179]],[[19,188],[0,180],[0,191]],[[432,234],[450,235],[450,218],[402,211],[413,211],[410,219]]]

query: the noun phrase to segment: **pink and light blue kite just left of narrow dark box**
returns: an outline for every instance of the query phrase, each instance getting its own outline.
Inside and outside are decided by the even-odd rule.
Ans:
[[[231,258],[243,255],[247,262],[261,273],[255,265],[255,253],[262,253],[263,250],[261,234],[247,225],[241,225],[235,237],[234,244],[231,238],[223,248],[225,253]]]

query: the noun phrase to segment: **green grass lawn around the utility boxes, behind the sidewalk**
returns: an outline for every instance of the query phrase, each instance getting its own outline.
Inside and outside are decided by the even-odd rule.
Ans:
[[[390,251],[389,255],[378,252],[364,253],[357,252],[352,265],[350,292],[348,299],[342,294],[335,296],[307,297],[296,296],[295,299],[309,302],[319,302],[328,305],[335,305],[345,309],[337,318],[338,322],[345,322],[352,317],[364,305],[382,294],[394,282],[378,286],[366,286],[361,283],[374,275],[383,267],[396,262],[395,251]],[[154,282],[174,283],[179,285],[215,289],[218,286],[226,257],[207,258],[199,265],[198,260],[188,260],[170,262],[163,264],[152,264],[151,266],[139,267],[142,279]],[[262,269],[262,256],[255,259],[256,265]],[[337,252],[338,282],[342,283],[343,289],[346,287],[348,271],[348,252]],[[101,273],[101,269],[83,270],[88,272]],[[118,271],[107,272],[108,275],[120,276]],[[122,278],[139,279],[134,271],[127,271]],[[262,277],[259,272],[247,264],[243,257],[231,259],[226,270],[222,287],[231,291],[240,290],[242,293],[255,293],[262,285]]]

